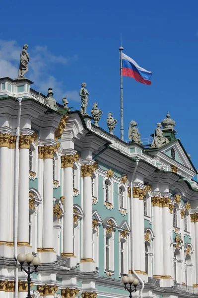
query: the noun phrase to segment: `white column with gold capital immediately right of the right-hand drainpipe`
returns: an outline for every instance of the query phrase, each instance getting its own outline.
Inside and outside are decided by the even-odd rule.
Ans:
[[[133,205],[133,261],[134,270],[140,273],[140,241],[139,241],[139,188],[132,188]]]

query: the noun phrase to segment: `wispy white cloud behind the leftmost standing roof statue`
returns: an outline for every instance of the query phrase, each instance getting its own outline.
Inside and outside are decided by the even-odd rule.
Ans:
[[[9,76],[14,79],[18,76],[20,52],[21,47],[17,45],[16,41],[0,40],[0,77]],[[65,96],[68,101],[80,101],[78,91],[67,91],[64,83],[50,74],[52,68],[57,64],[65,66],[75,62],[77,55],[72,57],[56,56],[48,50],[47,46],[36,46],[33,49],[28,49],[28,53],[30,62],[27,77],[34,82],[37,91],[47,94],[48,88],[53,88],[55,99],[58,102],[61,102]]]

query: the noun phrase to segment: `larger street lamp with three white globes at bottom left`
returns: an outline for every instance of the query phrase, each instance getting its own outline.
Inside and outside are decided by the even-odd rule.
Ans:
[[[31,254],[31,253],[27,253],[26,255],[23,254],[23,253],[20,253],[17,256],[17,260],[21,265],[21,267],[20,267],[21,271],[24,270],[25,273],[27,273],[27,298],[31,298],[31,295],[30,295],[30,283],[31,283],[30,274],[32,274],[34,272],[37,273],[37,267],[40,265],[41,260],[38,257],[34,257],[33,254]],[[27,264],[28,264],[28,270],[26,270],[23,267],[23,264],[25,262],[27,262]],[[33,270],[33,271],[30,270],[30,264],[31,263],[35,268],[35,270]]]

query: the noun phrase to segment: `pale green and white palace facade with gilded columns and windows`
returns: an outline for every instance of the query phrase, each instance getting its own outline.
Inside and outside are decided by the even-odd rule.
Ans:
[[[0,79],[0,298],[26,298],[29,252],[33,298],[127,298],[123,275],[133,297],[198,297],[197,171],[170,115],[165,144],[126,143],[31,84]]]

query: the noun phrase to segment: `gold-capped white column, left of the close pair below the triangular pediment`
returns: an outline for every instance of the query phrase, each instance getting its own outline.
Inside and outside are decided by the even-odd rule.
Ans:
[[[160,278],[162,276],[161,271],[161,262],[162,262],[162,254],[161,254],[161,221],[160,221],[160,206],[161,198],[160,197],[152,197],[152,206],[153,206],[153,233],[155,235],[155,239],[153,241],[154,246],[154,278]]]

